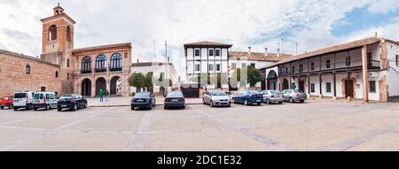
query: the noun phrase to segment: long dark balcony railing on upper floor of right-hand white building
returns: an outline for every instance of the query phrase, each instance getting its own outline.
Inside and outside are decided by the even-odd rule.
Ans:
[[[367,67],[369,69],[379,69],[381,62],[379,60],[368,60]],[[340,69],[355,69],[361,68],[363,66],[362,60],[350,60],[344,62],[323,64],[323,65],[303,65],[301,68],[282,70],[280,69],[280,75],[294,75],[301,73],[317,73],[321,71],[329,71],[329,70],[340,70]]]

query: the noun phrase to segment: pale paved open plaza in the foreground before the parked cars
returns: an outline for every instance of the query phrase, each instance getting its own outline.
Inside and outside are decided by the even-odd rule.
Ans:
[[[399,104],[0,111],[0,150],[399,150]]]

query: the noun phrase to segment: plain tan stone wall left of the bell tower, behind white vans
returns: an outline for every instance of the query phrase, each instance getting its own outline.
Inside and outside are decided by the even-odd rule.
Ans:
[[[30,65],[30,74],[26,66]],[[62,94],[61,79],[56,77],[59,65],[41,59],[0,50],[0,96],[12,96],[18,91],[54,91]]]

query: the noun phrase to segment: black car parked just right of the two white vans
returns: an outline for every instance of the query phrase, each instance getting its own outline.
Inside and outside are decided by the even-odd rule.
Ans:
[[[59,98],[57,109],[62,111],[63,109],[70,109],[76,111],[78,109],[84,109],[87,107],[87,100],[81,95],[64,95]]]

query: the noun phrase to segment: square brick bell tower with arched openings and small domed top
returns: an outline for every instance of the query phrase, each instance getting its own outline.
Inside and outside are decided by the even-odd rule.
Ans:
[[[58,5],[53,16],[41,19],[43,22],[42,59],[59,65],[59,79],[62,94],[74,92],[74,19]]]

